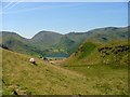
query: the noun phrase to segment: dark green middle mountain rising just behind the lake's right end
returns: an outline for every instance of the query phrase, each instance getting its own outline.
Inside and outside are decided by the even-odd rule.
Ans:
[[[72,54],[87,38],[87,32],[69,32],[61,39],[56,48],[62,48],[68,54]]]

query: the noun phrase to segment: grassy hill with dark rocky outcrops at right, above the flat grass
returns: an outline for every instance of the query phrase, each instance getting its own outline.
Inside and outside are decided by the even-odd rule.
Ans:
[[[130,47],[128,40],[117,40],[107,43],[87,41],[70,56],[69,64],[80,65],[128,65]]]

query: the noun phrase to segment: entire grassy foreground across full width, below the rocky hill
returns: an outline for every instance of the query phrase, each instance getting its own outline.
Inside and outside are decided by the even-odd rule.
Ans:
[[[54,66],[2,50],[3,95],[127,95],[127,68]]]

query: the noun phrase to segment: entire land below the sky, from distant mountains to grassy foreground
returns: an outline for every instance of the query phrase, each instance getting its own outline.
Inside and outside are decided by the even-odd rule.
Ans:
[[[2,33],[3,95],[129,93],[127,27],[67,34],[41,31],[32,39]],[[31,57],[36,65],[29,63]]]

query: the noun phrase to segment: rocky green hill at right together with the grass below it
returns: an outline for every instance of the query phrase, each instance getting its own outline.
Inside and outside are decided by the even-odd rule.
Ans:
[[[102,94],[128,94],[128,41],[84,42],[63,65],[91,78]],[[89,84],[89,83],[88,83]],[[117,91],[115,93],[115,91]]]

